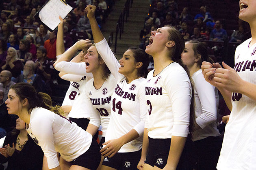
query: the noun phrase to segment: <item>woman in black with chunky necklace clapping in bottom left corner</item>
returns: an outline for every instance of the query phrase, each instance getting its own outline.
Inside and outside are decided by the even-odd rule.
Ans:
[[[15,130],[9,132],[0,148],[0,162],[8,161],[7,170],[39,170],[43,166],[43,151],[26,131],[26,123],[16,120]]]

